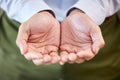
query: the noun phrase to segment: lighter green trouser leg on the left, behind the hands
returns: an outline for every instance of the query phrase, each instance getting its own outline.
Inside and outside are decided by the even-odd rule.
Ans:
[[[60,65],[35,66],[15,44],[19,23],[0,10],[0,80],[58,80]]]

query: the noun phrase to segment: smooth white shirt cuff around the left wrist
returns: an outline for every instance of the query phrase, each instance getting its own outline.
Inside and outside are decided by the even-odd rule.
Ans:
[[[52,11],[52,9],[44,2],[44,0],[26,0],[21,3],[20,7],[21,8],[17,15],[14,16],[14,19],[20,23],[25,22],[37,12],[43,10]]]

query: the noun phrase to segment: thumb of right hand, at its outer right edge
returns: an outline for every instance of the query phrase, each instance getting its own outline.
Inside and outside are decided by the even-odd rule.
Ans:
[[[91,31],[91,38],[93,41],[92,44],[92,51],[94,54],[97,54],[100,48],[102,48],[105,45],[101,30],[99,27]]]

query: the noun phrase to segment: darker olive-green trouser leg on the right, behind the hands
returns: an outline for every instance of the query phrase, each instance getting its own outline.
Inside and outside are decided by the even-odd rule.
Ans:
[[[120,80],[120,12],[101,25],[106,42],[92,60],[82,64],[66,64],[65,80]]]

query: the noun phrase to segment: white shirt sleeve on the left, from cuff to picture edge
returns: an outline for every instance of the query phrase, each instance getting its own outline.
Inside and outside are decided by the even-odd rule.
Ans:
[[[42,10],[52,10],[44,0],[0,0],[0,8],[20,23]]]

